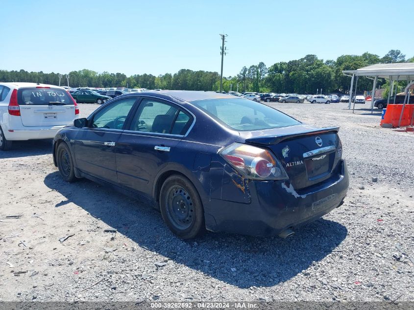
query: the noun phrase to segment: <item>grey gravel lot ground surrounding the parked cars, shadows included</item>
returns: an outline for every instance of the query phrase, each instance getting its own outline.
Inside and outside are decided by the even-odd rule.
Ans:
[[[351,177],[341,208],[287,239],[182,241],[142,202],[63,182],[50,141],[15,143],[0,153],[0,301],[414,301],[413,133],[345,103],[270,105],[341,126]]]

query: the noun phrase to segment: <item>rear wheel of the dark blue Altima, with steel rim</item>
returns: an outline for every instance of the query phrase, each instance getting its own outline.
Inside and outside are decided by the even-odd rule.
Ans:
[[[160,192],[160,210],[168,228],[179,238],[192,239],[205,232],[200,196],[184,176],[171,175],[165,180]]]

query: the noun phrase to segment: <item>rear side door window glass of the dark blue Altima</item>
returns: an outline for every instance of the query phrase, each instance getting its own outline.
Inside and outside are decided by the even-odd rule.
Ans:
[[[132,119],[131,130],[169,134],[177,112],[169,104],[144,99]]]

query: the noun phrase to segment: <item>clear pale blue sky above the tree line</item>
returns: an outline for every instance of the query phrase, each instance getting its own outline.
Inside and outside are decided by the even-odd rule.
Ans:
[[[412,57],[412,8],[411,0],[3,0],[0,69],[219,72],[223,31],[224,76],[307,54]]]

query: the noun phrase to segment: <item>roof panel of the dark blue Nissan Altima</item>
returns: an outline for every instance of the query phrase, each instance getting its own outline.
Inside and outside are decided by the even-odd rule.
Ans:
[[[158,95],[167,95],[177,99],[181,99],[187,102],[196,100],[207,100],[207,99],[235,99],[233,95],[220,94],[216,92],[204,92],[204,91],[157,91],[157,92],[143,92],[143,93],[129,93],[127,95],[152,95],[162,97]],[[239,98],[239,97],[238,97]]]

